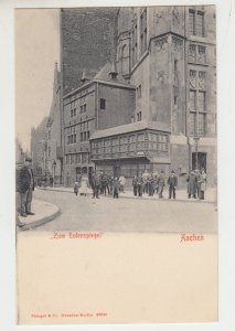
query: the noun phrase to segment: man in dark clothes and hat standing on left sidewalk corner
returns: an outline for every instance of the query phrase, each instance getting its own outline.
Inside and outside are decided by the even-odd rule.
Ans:
[[[31,169],[32,159],[26,157],[24,166],[19,173],[19,192],[21,194],[21,210],[20,215],[26,217],[28,215],[34,215],[31,212],[31,202],[34,190],[34,178]]]

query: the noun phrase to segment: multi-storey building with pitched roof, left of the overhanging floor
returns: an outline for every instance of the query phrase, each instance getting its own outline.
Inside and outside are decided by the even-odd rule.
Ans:
[[[100,129],[131,121],[136,87],[117,75],[110,62],[93,79],[63,97],[64,105],[64,182],[72,185],[77,177],[90,178],[89,138]]]

